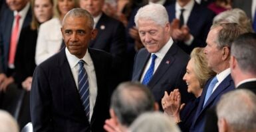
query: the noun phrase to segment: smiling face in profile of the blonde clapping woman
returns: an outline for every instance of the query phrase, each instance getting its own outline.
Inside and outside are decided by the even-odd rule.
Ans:
[[[195,96],[197,96],[198,94],[201,94],[202,89],[199,79],[195,75],[193,64],[194,59],[192,58],[190,59],[190,61],[188,61],[187,71],[183,77],[183,80],[186,81],[188,85],[188,92],[193,93]]]

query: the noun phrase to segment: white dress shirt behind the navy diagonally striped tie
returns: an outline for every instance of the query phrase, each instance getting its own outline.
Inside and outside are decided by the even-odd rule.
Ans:
[[[79,71],[78,62],[80,61],[80,59],[77,58],[75,55],[72,55],[67,48],[65,48],[65,52],[66,52],[66,58],[68,59],[70,69],[72,71],[72,75],[74,77],[74,82],[76,82],[76,88],[78,89],[78,71]],[[90,90],[90,119],[92,119],[93,108],[95,106],[98,89],[97,89],[97,81],[96,81],[94,65],[88,50],[86,51],[86,54],[84,55],[84,57],[82,57],[82,60],[84,60],[85,62],[84,69],[88,75],[89,90]]]

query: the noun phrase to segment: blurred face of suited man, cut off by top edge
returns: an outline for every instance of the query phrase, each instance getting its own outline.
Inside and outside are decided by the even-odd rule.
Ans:
[[[104,0],[80,0],[80,7],[94,17],[100,15],[103,5]]]

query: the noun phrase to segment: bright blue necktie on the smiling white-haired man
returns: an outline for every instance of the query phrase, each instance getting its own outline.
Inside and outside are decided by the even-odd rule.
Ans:
[[[150,79],[152,78],[153,76],[153,73],[154,73],[154,67],[155,67],[155,60],[156,60],[156,55],[153,54],[151,56],[151,64],[150,64],[150,67],[148,68],[148,71],[146,72],[145,76],[144,76],[144,79],[142,81],[142,84],[146,85],[148,84],[148,82],[150,82]]]

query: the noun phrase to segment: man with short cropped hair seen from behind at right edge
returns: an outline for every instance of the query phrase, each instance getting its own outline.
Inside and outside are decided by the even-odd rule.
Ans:
[[[231,76],[236,88],[247,88],[256,94],[256,34],[239,36],[231,46]]]

